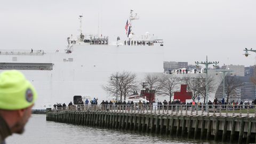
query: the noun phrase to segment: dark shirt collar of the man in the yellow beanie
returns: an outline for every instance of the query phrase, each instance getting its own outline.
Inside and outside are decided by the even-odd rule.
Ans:
[[[5,143],[4,139],[11,134],[12,133],[11,133],[9,126],[7,125],[7,123],[4,121],[4,119],[0,115],[0,143],[4,144]]]

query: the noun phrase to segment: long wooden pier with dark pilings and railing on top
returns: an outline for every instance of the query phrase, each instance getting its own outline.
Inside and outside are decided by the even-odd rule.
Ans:
[[[256,143],[254,105],[76,105],[47,111],[46,120],[201,140]]]

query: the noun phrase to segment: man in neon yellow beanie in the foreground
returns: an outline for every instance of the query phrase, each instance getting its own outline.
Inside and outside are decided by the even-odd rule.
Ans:
[[[17,70],[0,74],[0,144],[12,133],[23,133],[37,99],[34,86]]]

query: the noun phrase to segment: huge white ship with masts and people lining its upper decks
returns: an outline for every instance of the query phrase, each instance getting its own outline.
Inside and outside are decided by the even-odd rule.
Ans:
[[[128,37],[117,37],[116,42],[109,42],[108,36],[83,34],[82,18],[79,35],[68,37],[63,50],[0,50],[0,72],[18,69],[36,87],[34,109],[68,103],[74,95],[106,100],[102,85],[117,71],[131,71],[139,77],[163,72],[163,40],[149,33],[135,35],[131,25],[139,18],[132,10],[125,27]]]

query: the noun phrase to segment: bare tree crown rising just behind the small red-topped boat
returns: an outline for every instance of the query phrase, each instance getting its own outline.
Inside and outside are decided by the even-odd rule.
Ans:
[[[144,82],[148,83],[149,90],[155,90],[156,94],[161,94],[162,85],[160,77],[154,74],[147,74],[144,78]]]

